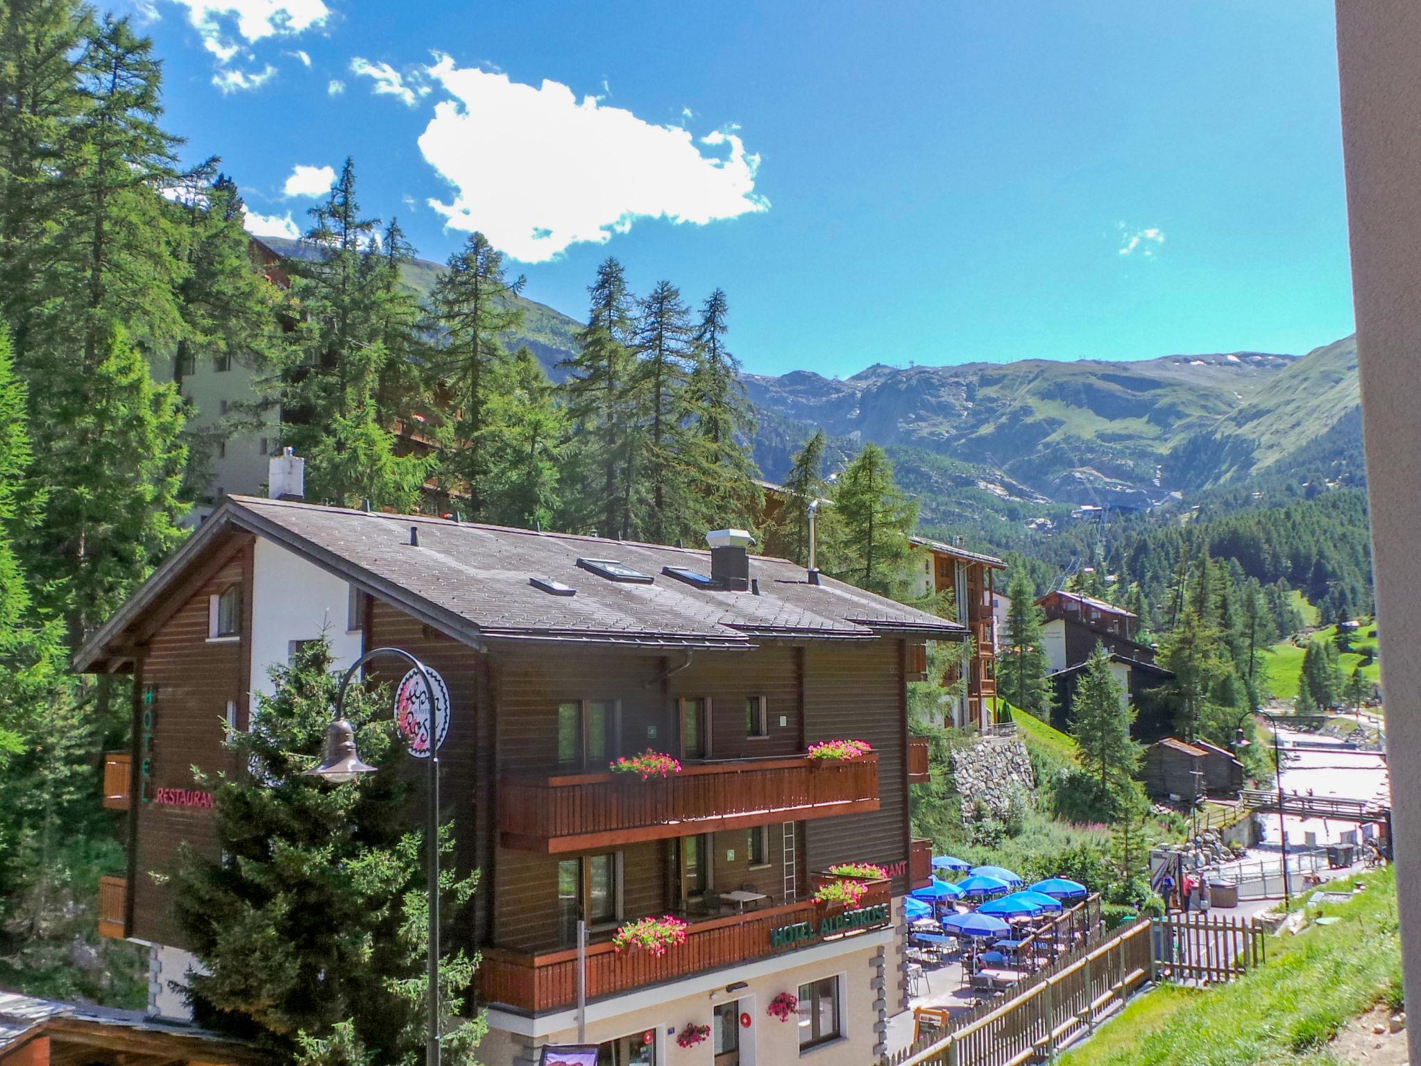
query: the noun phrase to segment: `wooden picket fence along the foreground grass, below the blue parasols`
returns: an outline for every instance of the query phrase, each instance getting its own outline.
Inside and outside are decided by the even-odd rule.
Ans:
[[[1147,981],[1223,982],[1263,961],[1263,927],[1253,920],[1175,914],[1140,918],[1006,992],[978,1003],[946,1030],[924,1036],[882,1066],[1026,1066],[1050,1060],[1094,1030]]]

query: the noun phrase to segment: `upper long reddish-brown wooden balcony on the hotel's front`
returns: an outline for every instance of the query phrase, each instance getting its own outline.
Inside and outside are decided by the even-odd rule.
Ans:
[[[499,785],[499,839],[557,854],[861,810],[878,810],[877,753],[685,763],[651,780],[611,772],[507,777]]]

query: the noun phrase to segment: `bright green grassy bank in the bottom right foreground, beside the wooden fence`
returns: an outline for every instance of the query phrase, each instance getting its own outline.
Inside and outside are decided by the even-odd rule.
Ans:
[[[1061,1066],[1250,1066],[1322,1063],[1326,1042],[1378,999],[1400,999],[1401,941],[1395,878],[1384,870],[1368,891],[1322,910],[1343,921],[1269,938],[1268,962],[1206,992],[1151,992]]]

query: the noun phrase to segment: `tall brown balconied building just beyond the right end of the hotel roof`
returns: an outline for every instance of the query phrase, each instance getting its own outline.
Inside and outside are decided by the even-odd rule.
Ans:
[[[973,655],[968,664],[963,698],[952,711],[951,725],[992,725],[996,714],[996,590],[995,573],[1005,570],[996,556],[968,551],[956,539],[952,544],[928,537],[909,537],[908,557],[914,596],[951,590],[958,624],[972,635]],[[1003,597],[1005,600],[1005,597]],[[955,681],[956,678],[948,678]]]

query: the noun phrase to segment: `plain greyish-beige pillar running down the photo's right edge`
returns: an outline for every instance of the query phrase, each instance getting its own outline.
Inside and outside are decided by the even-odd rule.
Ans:
[[[1421,4],[1337,0],[1353,301],[1393,768],[1421,752]],[[1421,776],[1393,773],[1408,1003],[1421,1003]],[[1408,1028],[1421,1062],[1421,1026]]]

